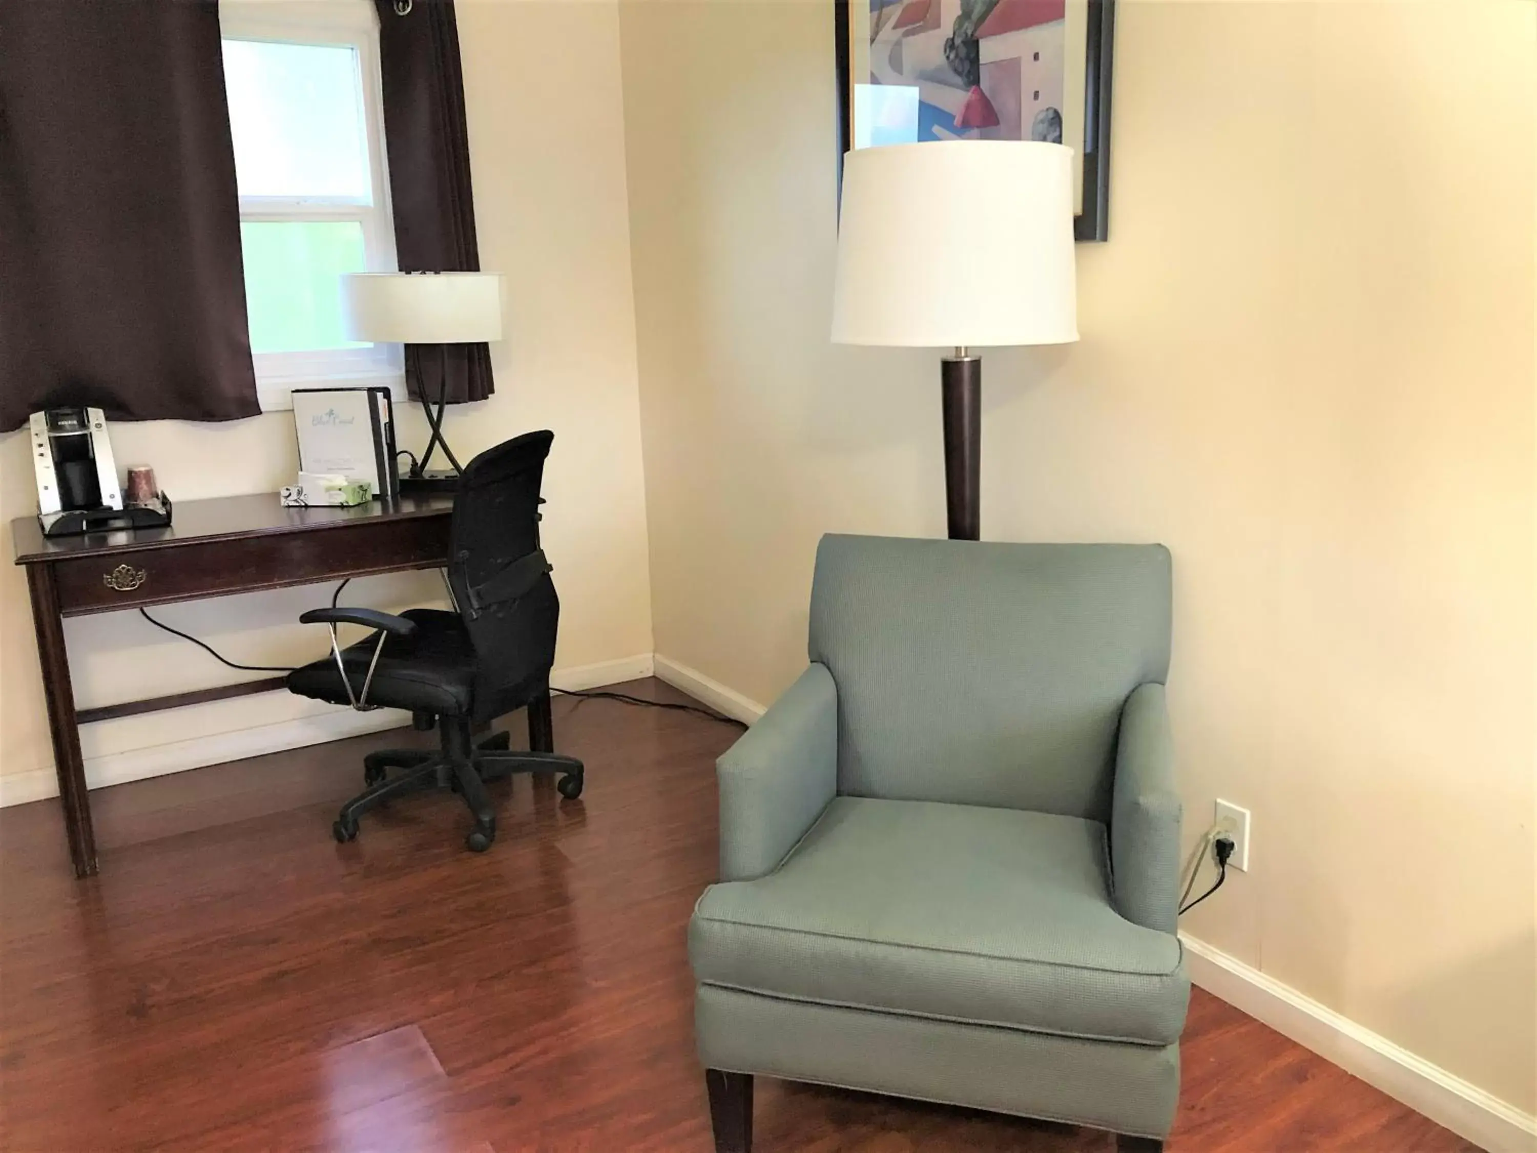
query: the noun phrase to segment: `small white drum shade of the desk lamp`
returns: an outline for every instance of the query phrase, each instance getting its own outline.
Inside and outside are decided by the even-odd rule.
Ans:
[[[355,272],[341,277],[347,340],[469,344],[501,340],[500,272]]]

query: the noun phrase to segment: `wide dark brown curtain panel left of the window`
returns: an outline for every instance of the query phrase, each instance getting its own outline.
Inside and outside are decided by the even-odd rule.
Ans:
[[[0,432],[252,417],[212,0],[0,0]]]

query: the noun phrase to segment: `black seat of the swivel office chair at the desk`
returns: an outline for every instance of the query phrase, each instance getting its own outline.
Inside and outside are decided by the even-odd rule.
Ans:
[[[475,646],[456,612],[409,609],[401,613],[415,621],[410,636],[386,636],[384,650],[369,684],[369,704],[389,709],[420,709],[440,716],[469,716],[475,710]],[[369,633],[341,650],[352,692],[363,692],[363,681],[373,660],[378,633]],[[349,704],[337,660],[329,652],[287,675],[289,692],[315,696],[332,704]]]

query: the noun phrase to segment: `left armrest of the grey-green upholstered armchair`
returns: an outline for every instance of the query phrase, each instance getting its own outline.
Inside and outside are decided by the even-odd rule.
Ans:
[[[715,767],[721,879],[773,872],[838,790],[838,689],[827,666],[801,673]]]

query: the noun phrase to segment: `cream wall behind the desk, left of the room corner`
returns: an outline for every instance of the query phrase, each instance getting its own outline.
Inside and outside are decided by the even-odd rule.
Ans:
[[[360,3],[363,0],[358,0]],[[449,417],[461,460],[518,432],[555,430],[544,544],[561,592],[558,667],[652,650],[635,317],[626,211],[618,12],[613,3],[458,5],[481,263],[506,274],[506,332],[492,346],[496,394]],[[549,106],[559,92],[559,114]],[[403,444],[426,441],[420,409]],[[114,424],[120,464],[148,461],[178,501],[272,492],[295,472],[294,423]],[[0,438],[0,520],[35,512],[22,434]],[[169,606],[163,618],[247,663],[314,660],[323,636],[295,624],[327,587]],[[354,604],[440,598],[433,575],[370,578]],[[247,680],[137,613],[66,626],[81,706]],[[89,726],[86,756],[329,710],[286,693]],[[0,773],[48,769],[26,581],[0,564]]]

